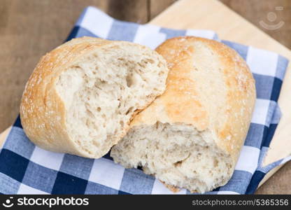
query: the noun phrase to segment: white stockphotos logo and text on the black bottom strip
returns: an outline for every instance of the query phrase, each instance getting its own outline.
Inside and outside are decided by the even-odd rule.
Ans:
[[[10,208],[13,206],[87,206],[89,205],[89,198],[75,198],[75,197],[9,197],[2,203],[3,207]]]

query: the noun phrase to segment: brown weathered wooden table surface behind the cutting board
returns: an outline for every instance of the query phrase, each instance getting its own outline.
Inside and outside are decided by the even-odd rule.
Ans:
[[[0,132],[17,116],[24,85],[38,59],[64,41],[85,6],[97,6],[120,20],[146,23],[174,1],[0,0]],[[261,0],[221,1],[291,48],[290,0],[264,0],[264,3]],[[276,7],[283,10],[276,10]],[[260,25],[262,20],[271,20],[268,19],[271,12],[276,18],[274,22],[284,21],[280,29],[269,30]],[[264,183],[257,193],[291,194],[290,175],[291,162]]]

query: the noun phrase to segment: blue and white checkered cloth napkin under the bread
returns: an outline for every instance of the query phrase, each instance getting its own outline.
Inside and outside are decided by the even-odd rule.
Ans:
[[[173,30],[114,20],[97,8],[88,7],[69,39],[97,36],[133,41],[155,48],[166,38],[193,35],[218,40],[213,31]],[[262,167],[281,117],[277,105],[288,60],[274,52],[222,41],[246,59],[256,80],[257,101],[248,137],[232,179],[211,194],[254,193],[270,169],[285,158]],[[97,160],[52,153],[38,148],[25,136],[20,119],[8,135],[0,153],[0,193],[3,194],[167,194],[171,193],[153,176],[140,169],[125,169],[107,154]],[[180,194],[189,193],[181,190]]]

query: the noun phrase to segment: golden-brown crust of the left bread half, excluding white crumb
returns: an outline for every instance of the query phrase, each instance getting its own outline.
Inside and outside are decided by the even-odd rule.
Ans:
[[[73,66],[80,57],[92,50],[114,47],[116,43],[136,45],[101,38],[75,38],[41,58],[27,82],[20,105],[20,118],[24,132],[37,146],[49,151],[71,153],[87,158],[99,158],[104,155],[86,153],[70,139],[66,130],[66,109],[64,102],[57,94],[55,84],[60,73]],[[146,47],[139,45],[139,48]],[[120,136],[113,139],[113,144],[117,144],[128,129],[129,125],[125,125]]]

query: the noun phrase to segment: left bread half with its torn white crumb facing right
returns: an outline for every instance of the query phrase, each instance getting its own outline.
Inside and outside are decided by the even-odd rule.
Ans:
[[[164,92],[166,61],[125,41],[76,38],[42,57],[25,87],[22,127],[49,151],[100,158]]]

